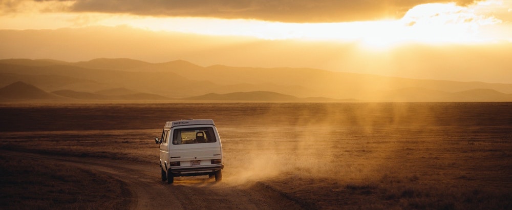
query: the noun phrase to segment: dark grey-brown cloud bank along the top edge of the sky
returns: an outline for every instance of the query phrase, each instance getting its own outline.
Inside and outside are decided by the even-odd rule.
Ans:
[[[13,10],[12,0],[0,0],[3,10]],[[25,0],[27,1],[27,0]],[[419,4],[453,0],[33,0],[70,3],[71,12],[125,13],[148,16],[260,19],[276,22],[319,23],[398,19]],[[474,0],[456,0],[460,6]]]

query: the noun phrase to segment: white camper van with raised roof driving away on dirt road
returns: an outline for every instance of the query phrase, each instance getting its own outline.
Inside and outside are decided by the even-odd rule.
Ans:
[[[162,181],[174,177],[202,176],[222,179],[222,144],[214,120],[182,119],[165,123],[160,139]]]

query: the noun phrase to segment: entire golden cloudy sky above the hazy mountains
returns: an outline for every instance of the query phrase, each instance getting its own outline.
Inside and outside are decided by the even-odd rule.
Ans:
[[[0,59],[184,59],[512,83],[512,0],[0,0]]]

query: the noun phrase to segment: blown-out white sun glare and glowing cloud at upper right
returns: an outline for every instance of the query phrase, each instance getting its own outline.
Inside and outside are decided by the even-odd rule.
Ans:
[[[365,48],[383,50],[404,43],[475,44],[492,40],[483,27],[501,23],[493,16],[476,13],[474,5],[423,4],[401,19],[358,23],[351,33]]]

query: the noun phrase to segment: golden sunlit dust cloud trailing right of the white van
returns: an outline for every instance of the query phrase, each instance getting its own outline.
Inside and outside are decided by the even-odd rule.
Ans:
[[[400,128],[417,132],[429,122],[429,112],[410,111],[408,106],[382,103],[270,104],[258,118],[219,127],[225,177],[230,183],[283,176],[374,177],[389,168],[383,166],[386,159],[400,149]]]

